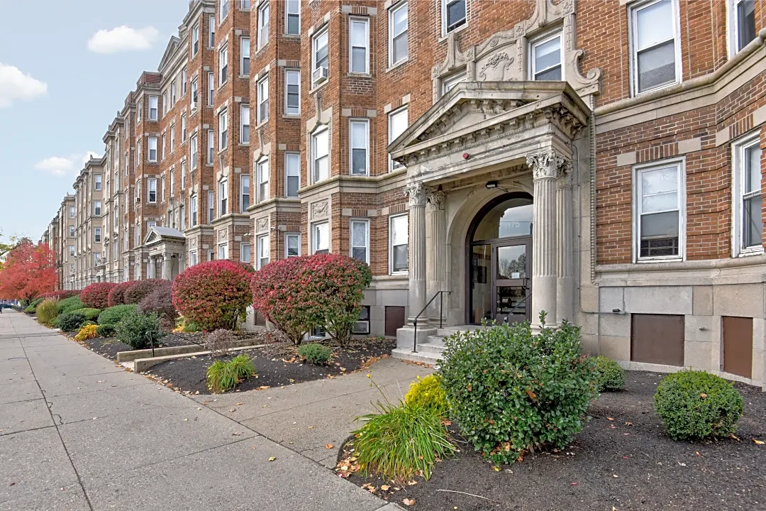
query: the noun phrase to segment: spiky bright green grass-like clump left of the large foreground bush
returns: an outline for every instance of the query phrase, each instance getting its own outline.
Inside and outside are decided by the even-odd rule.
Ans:
[[[451,454],[447,429],[436,408],[415,403],[378,403],[378,414],[356,418],[365,425],[354,431],[354,453],[363,474],[385,480],[409,481],[415,474],[430,477],[437,459]]]

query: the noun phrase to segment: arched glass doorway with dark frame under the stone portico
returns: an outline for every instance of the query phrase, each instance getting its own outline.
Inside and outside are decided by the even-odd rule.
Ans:
[[[532,195],[512,192],[473,218],[466,240],[468,323],[530,319],[532,216]]]

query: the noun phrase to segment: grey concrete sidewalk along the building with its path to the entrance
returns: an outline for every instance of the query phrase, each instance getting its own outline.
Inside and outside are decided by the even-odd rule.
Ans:
[[[355,381],[345,378],[356,376],[335,381],[349,388],[348,399]],[[347,402],[342,391],[326,391],[321,383],[313,385],[323,397]],[[286,396],[296,388],[251,393],[248,406],[254,410],[268,392]],[[360,390],[361,398],[370,389]],[[328,415],[321,406],[311,408],[317,396],[307,394],[305,420]],[[269,401],[285,404],[283,415],[254,411],[247,412],[249,422],[231,420],[221,407],[198,405],[124,372],[24,314],[4,311],[0,509],[398,509],[316,463],[316,442],[270,440],[279,436],[275,431],[290,431],[286,421],[298,412],[290,411],[297,401]],[[218,404],[223,403],[211,403]],[[237,408],[248,409],[243,407]]]

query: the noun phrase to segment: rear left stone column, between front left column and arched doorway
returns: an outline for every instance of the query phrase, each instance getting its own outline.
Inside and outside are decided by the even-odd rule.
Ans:
[[[445,275],[447,265],[447,212],[444,211],[444,192],[426,190],[428,204],[428,217],[430,228],[430,247],[428,247],[429,264],[427,280],[427,299],[437,293],[446,290]],[[446,318],[447,296],[442,296],[444,308],[442,317]],[[433,306],[428,311],[428,316],[434,324],[439,324],[439,299],[434,300]]]

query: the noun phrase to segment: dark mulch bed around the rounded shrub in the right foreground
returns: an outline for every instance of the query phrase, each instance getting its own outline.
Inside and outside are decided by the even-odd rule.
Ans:
[[[591,421],[564,452],[527,454],[498,472],[455,434],[460,452],[438,463],[428,481],[398,485],[358,474],[349,480],[419,511],[766,509],[766,444],[753,441],[766,441],[766,393],[735,384],[745,401],[739,441],[677,442],[664,434],[653,410],[662,378],[626,372],[626,390],[602,394],[591,405]],[[382,484],[391,489],[381,492]],[[404,499],[415,503],[404,505]]]

